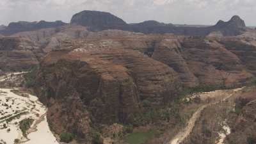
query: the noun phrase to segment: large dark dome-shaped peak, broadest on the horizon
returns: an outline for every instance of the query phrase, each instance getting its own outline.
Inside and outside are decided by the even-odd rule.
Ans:
[[[126,25],[126,22],[108,12],[84,10],[83,12],[76,13],[72,17],[71,24],[101,29],[102,27],[123,26]]]

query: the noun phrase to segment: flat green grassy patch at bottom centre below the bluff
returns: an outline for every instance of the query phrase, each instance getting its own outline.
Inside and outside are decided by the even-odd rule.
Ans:
[[[147,132],[132,132],[127,135],[125,142],[129,144],[145,143],[148,139],[152,138],[154,134],[155,132],[153,130],[149,130]]]

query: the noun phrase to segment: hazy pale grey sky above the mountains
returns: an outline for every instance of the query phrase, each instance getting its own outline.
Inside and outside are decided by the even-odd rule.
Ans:
[[[256,26],[256,0],[0,0],[0,25],[26,20],[69,22],[82,10],[111,12],[126,22],[215,24],[239,15]]]

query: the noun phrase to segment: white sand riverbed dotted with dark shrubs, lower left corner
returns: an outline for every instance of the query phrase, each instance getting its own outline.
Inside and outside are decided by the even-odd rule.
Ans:
[[[22,97],[11,92],[13,89],[0,88],[0,141],[13,144],[15,139],[26,141],[25,144],[58,144],[45,118],[47,108],[33,95]],[[27,112],[27,113],[24,113]],[[22,113],[22,115],[19,115]],[[12,120],[10,118],[12,117]],[[26,118],[33,118],[31,133],[28,140],[22,136],[19,122]],[[6,122],[9,120],[10,122]],[[6,127],[4,127],[6,125]],[[8,132],[8,130],[10,131]]]

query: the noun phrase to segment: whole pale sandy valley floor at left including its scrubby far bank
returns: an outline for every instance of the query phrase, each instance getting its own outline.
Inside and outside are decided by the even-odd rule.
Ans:
[[[27,72],[0,77],[0,143],[57,144],[47,124],[47,108],[19,87],[24,74]]]

